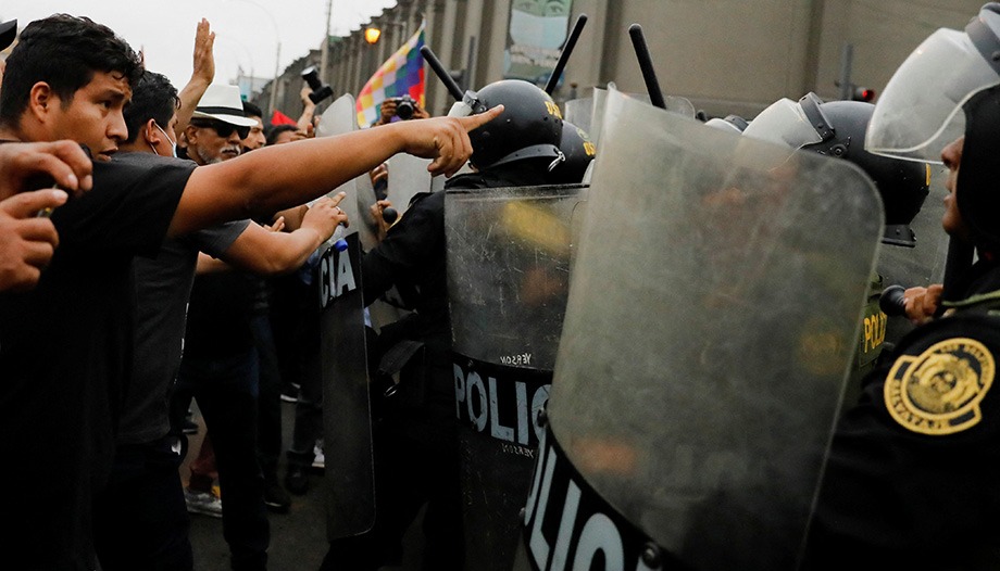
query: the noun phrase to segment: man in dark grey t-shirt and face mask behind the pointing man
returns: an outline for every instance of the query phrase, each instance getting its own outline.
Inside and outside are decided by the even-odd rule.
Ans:
[[[177,90],[166,77],[145,72],[124,110],[129,139],[115,161],[146,167],[177,161],[170,157],[177,102]],[[135,360],[110,485],[96,506],[97,547],[105,571],[193,564],[177,479],[183,446],[177,435],[168,434],[167,411],[198,252],[253,272],[288,271],[329,238],[337,227],[337,212],[336,201],[322,199],[296,232],[271,232],[250,220],[237,220],[167,238],[154,258],[134,261]],[[263,524],[266,531],[266,521]]]

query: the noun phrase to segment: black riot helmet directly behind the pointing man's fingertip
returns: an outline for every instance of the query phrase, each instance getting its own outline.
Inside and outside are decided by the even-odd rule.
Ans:
[[[489,84],[473,94],[473,109],[503,105],[503,113],[471,131],[470,162],[479,170],[528,158],[549,158],[549,169],[565,160],[559,144],[563,119],[559,106],[541,88],[522,79]]]

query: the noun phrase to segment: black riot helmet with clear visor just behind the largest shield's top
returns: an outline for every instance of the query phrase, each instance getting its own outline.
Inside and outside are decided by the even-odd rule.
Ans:
[[[798,103],[782,99],[761,112],[743,135],[793,149],[843,158],[875,182],[885,206],[883,243],[913,248],[910,223],[930,190],[930,166],[865,150],[865,130],[875,105],[862,101],[824,102],[807,93]]]

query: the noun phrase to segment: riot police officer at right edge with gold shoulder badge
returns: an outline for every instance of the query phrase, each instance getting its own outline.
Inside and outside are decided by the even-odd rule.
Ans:
[[[974,246],[978,262],[950,268],[958,278],[945,283],[947,317],[904,337],[837,427],[809,569],[1000,566],[998,49],[1000,4],[989,3],[965,33],[928,37],[876,106],[867,148],[911,158],[940,152],[949,169],[942,226]],[[952,122],[959,107],[964,137]]]

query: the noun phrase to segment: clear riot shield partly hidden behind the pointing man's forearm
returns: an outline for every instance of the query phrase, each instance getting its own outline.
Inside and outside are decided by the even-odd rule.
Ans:
[[[320,125],[316,127],[316,137],[336,137],[351,132],[358,128],[358,114],[354,110],[354,98],[350,93],[345,93],[337,98],[329,107],[320,116]],[[367,181],[367,187],[365,187]],[[371,189],[372,181],[367,175],[362,175],[354,180],[348,181],[340,187],[330,191],[329,195],[337,192],[346,192],[347,198],[340,202],[340,207],[347,214],[351,224],[351,231],[357,231],[364,250],[375,246],[377,243],[374,219],[368,213],[368,207],[375,203],[374,191],[368,194],[366,188]]]

